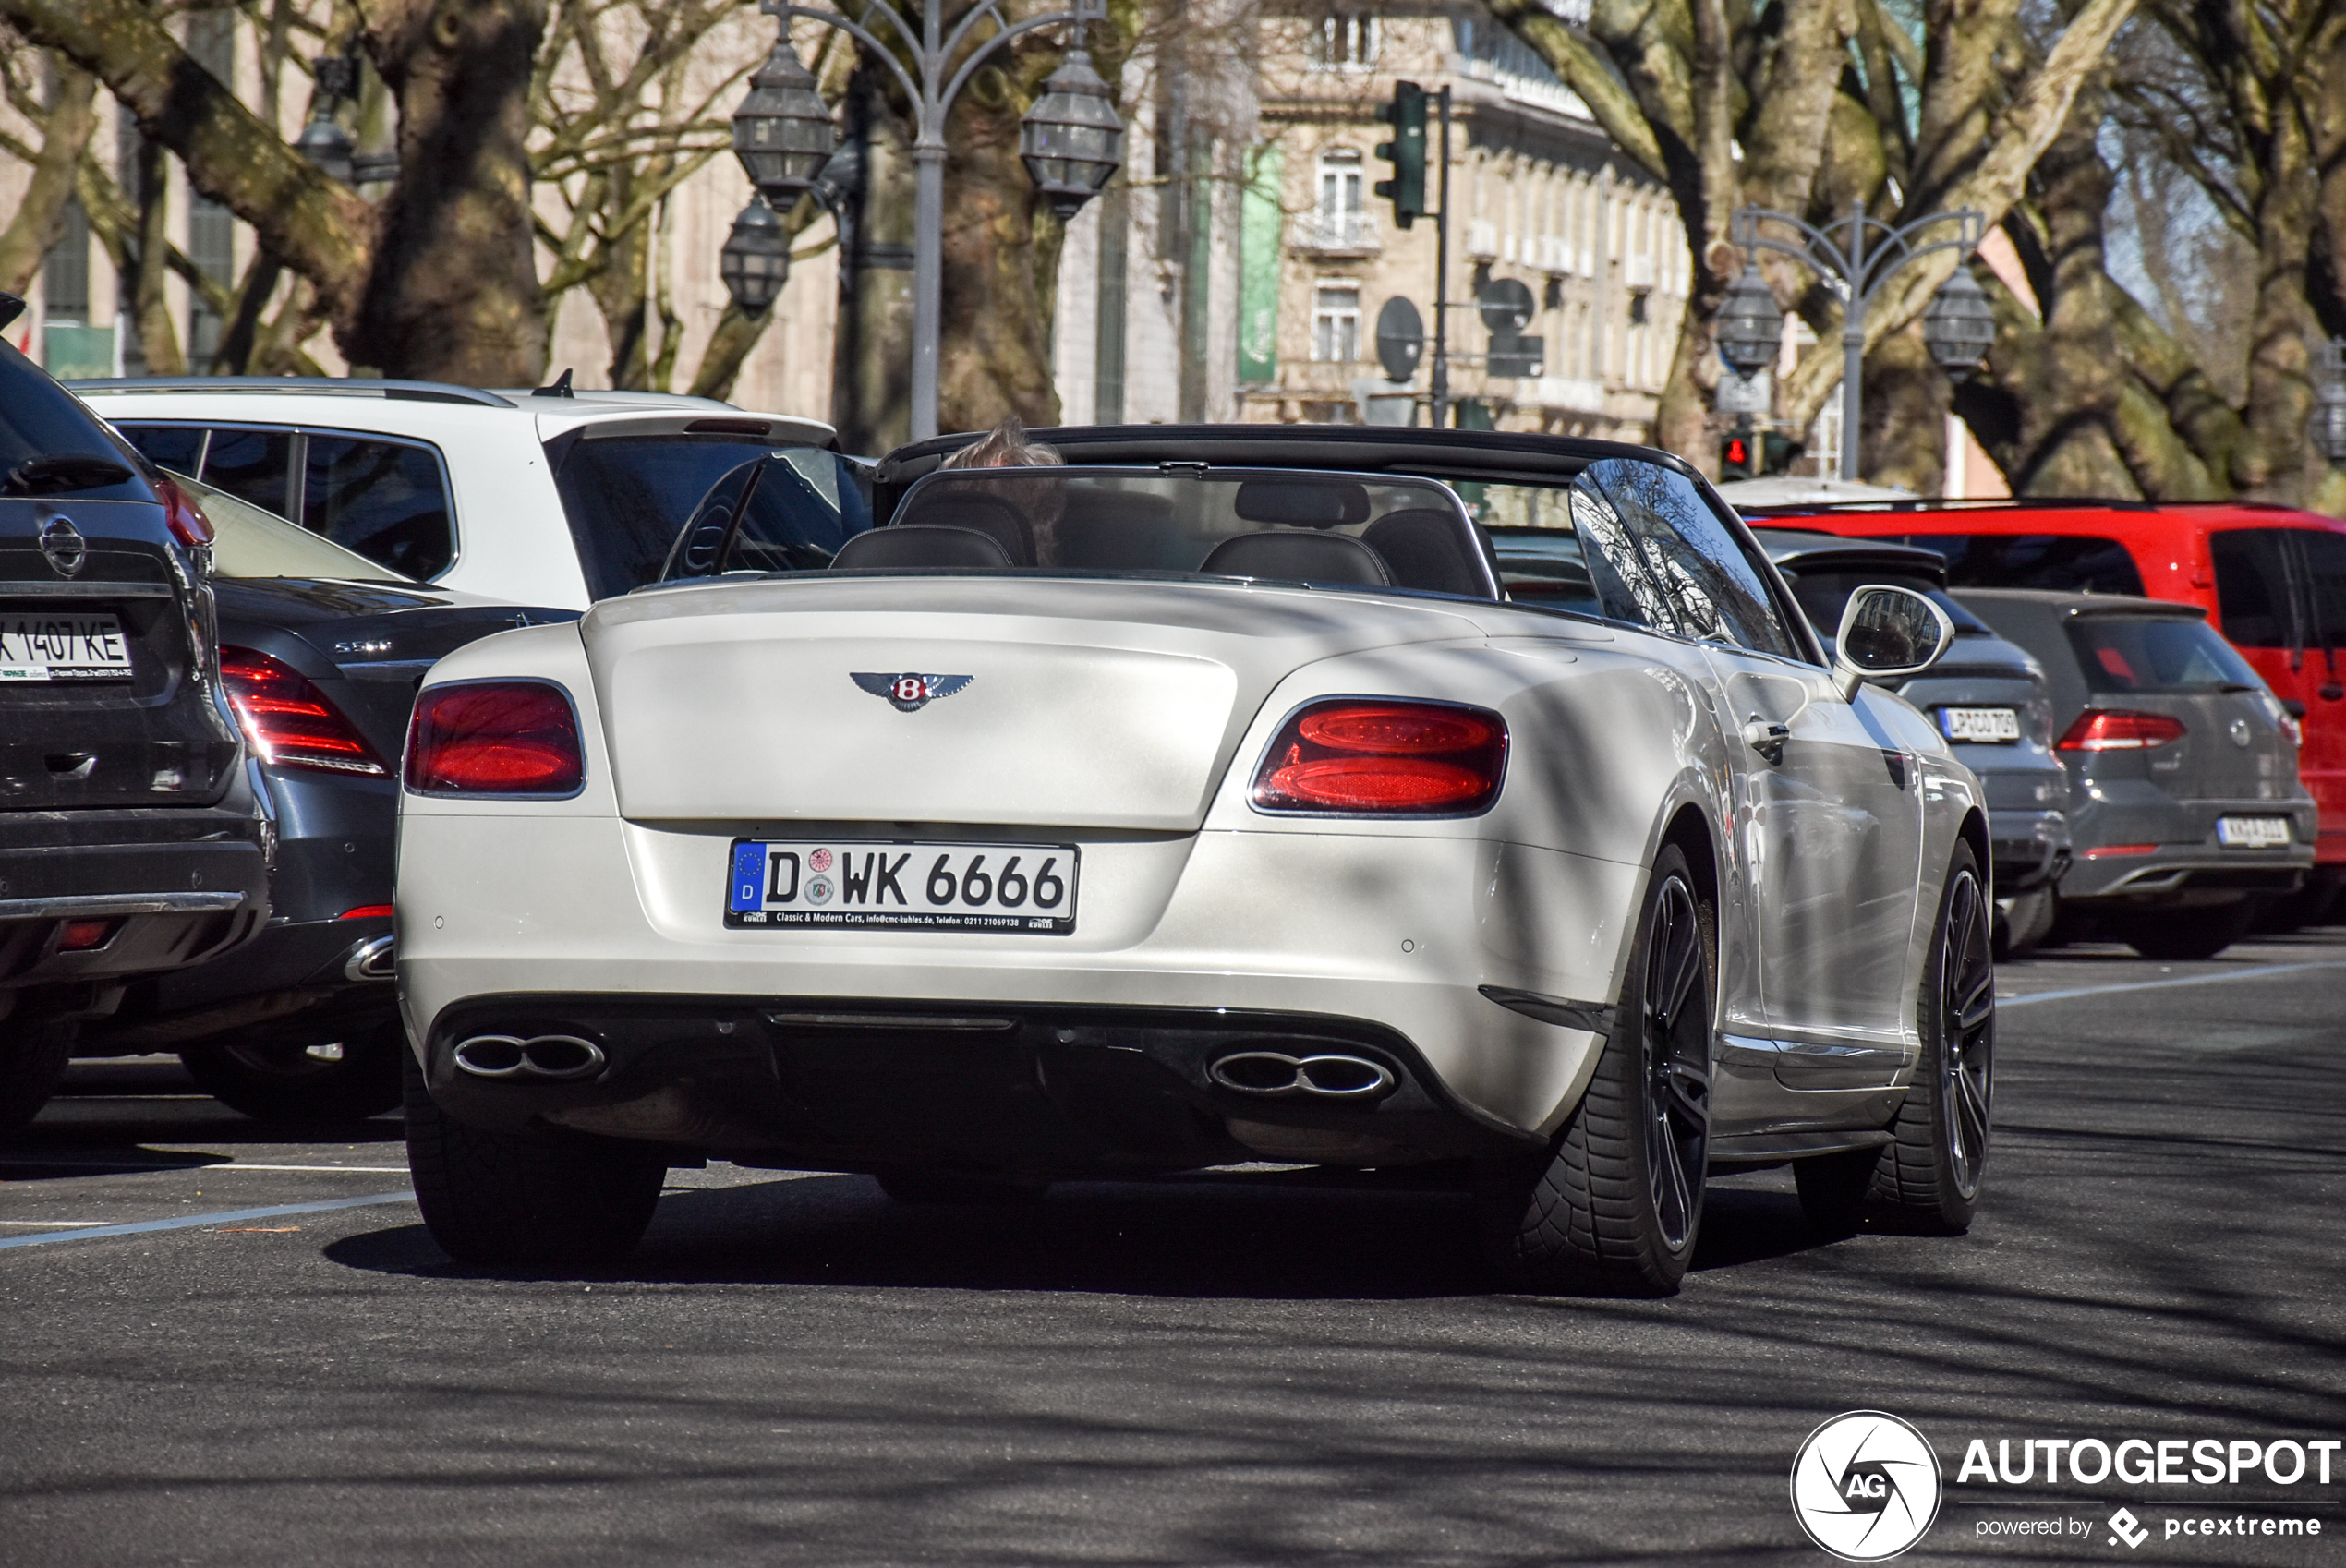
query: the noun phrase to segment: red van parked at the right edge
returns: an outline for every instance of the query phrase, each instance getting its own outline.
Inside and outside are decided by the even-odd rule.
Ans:
[[[2299,773],[2320,844],[2290,909],[2318,919],[2346,884],[2346,520],[2262,502],[1858,502],[1752,506],[1947,558],[1950,588],[2142,593],[2201,605],[2304,724]]]

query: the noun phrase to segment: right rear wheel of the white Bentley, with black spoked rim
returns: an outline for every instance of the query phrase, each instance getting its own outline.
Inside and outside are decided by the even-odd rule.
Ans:
[[[1654,860],[1616,1027],[1534,1167],[1485,1172],[1483,1242],[1537,1291],[1668,1296],[1703,1221],[1717,914],[1684,851]]]

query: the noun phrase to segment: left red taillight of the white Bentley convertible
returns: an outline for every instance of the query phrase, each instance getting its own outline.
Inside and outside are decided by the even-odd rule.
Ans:
[[[579,722],[561,687],[481,680],[432,687],[408,727],[408,788],[427,795],[572,795],[586,783]]]

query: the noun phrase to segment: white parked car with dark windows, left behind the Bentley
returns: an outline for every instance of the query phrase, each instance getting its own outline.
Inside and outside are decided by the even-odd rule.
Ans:
[[[868,520],[861,466],[828,424],[716,398],[232,375],[73,389],[164,469],[408,577],[521,605],[584,609],[657,581],[711,485],[777,450],[847,532]]]

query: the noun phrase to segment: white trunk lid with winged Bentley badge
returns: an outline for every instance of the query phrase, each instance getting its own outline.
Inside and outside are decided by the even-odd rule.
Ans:
[[[1290,670],[1480,640],[1370,595],[903,577],[638,593],[582,633],[626,818],[1143,832],[1203,823]]]

